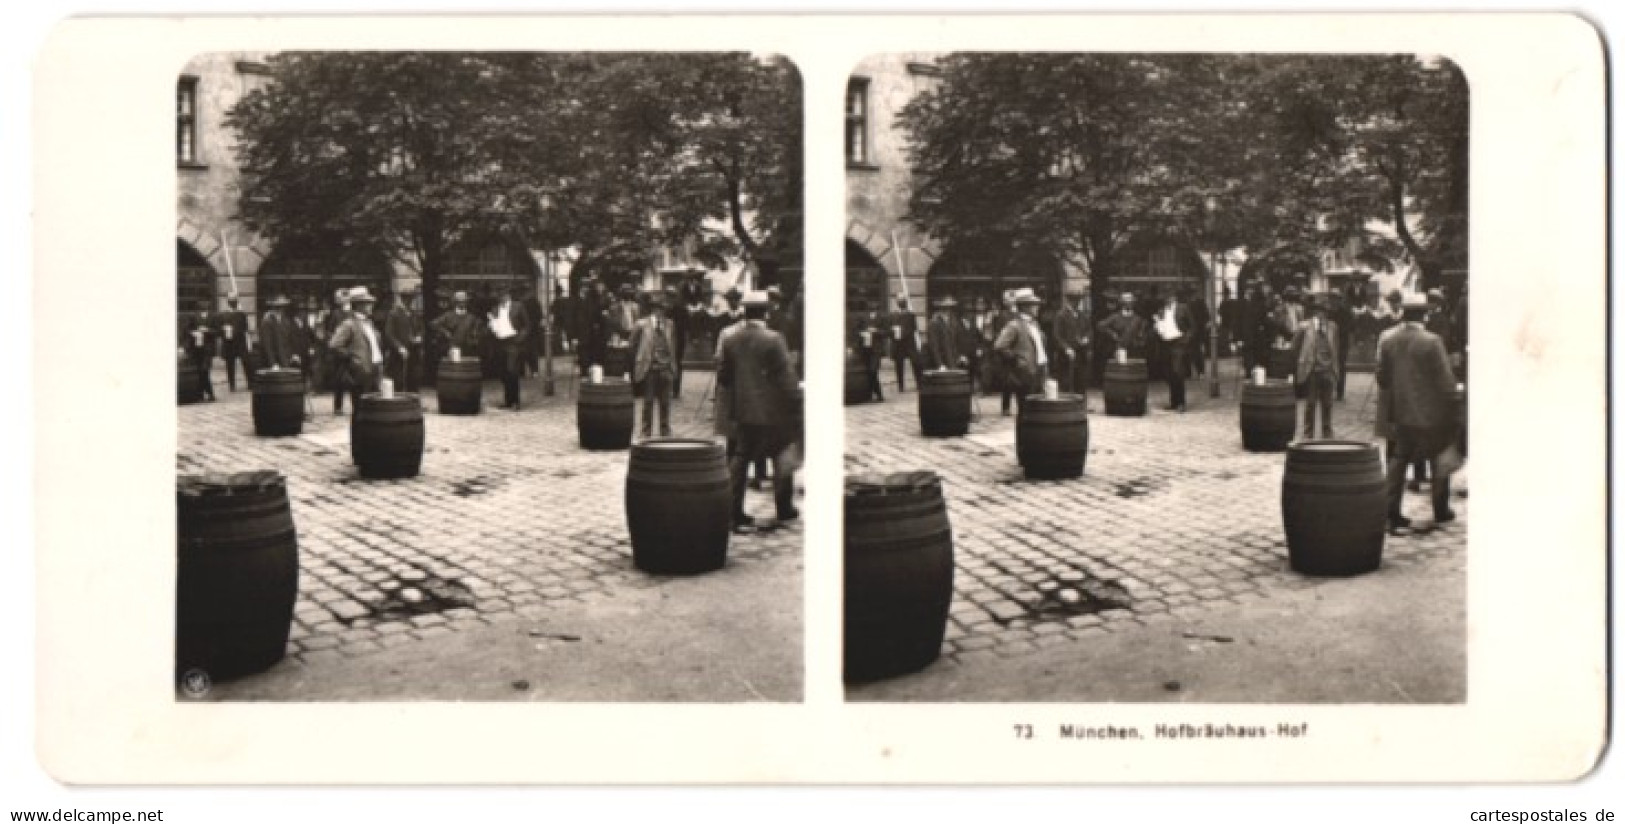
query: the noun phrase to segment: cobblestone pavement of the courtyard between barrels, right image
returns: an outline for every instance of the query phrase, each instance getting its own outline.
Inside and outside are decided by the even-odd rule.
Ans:
[[[1020,655],[1105,632],[1188,619],[1219,605],[1336,585],[1287,566],[1280,523],[1284,453],[1242,449],[1235,362],[1220,398],[1186,382],[1188,411],[1165,411],[1167,384],[1152,382],[1144,418],[1112,418],[1089,392],[1084,476],[1027,481],[1016,462],[1016,416],[980,397],[964,437],[923,437],[918,393],[899,395],[886,364],[886,401],[847,406],[848,473],[934,470],[954,528],[954,601],[947,663]],[[1372,439],[1370,374],[1352,374],[1336,403],[1339,437]],[[1372,400],[1367,403],[1367,397]],[[1302,414],[1302,411],[1300,411]],[[1466,488],[1466,471],[1458,475]],[[1464,572],[1467,501],[1459,517],[1428,528],[1427,494],[1407,494],[1419,527],[1388,536],[1384,567],[1450,564]],[[1462,580],[1462,585],[1464,580]]]

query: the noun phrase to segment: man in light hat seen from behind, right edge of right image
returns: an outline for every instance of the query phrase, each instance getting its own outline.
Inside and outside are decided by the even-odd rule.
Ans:
[[[1406,466],[1419,458],[1433,466],[1433,523],[1450,523],[1450,471],[1436,458],[1454,440],[1456,375],[1450,369],[1445,341],[1424,327],[1427,299],[1407,297],[1401,304],[1402,322],[1384,333],[1376,345],[1376,385],[1384,390],[1388,421],[1394,447],[1388,453],[1388,527],[1410,525],[1404,517]]]

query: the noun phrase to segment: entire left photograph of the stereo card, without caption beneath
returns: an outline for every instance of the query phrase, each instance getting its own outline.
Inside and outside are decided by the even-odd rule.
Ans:
[[[801,117],[772,54],[192,59],[176,699],[801,700]]]

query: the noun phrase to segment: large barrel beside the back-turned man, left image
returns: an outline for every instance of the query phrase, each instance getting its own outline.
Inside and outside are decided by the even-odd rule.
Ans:
[[[713,440],[655,439],[632,447],[626,468],[626,525],[632,564],[692,575],[728,561],[726,449]]]

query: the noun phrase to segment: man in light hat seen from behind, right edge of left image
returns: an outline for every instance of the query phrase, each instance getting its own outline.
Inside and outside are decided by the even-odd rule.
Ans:
[[[734,531],[756,527],[744,512],[744,481],[751,463],[762,457],[774,460],[774,505],[778,520],[800,515],[795,507],[795,473],[788,466],[798,418],[798,387],[790,349],[785,338],[764,323],[765,294],[751,293],[744,301],[744,323],[723,341],[717,364],[717,384],[730,390],[733,419],[739,431],[739,449],[728,466],[733,478]]]

